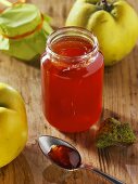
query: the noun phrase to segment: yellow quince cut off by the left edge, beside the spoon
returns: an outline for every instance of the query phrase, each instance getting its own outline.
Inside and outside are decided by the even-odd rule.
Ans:
[[[16,90],[0,83],[0,168],[18,156],[26,144],[27,134],[23,98]]]

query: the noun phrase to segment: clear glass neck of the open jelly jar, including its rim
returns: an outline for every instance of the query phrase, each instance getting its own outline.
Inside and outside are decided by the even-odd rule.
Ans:
[[[79,37],[80,39],[86,40],[92,47],[88,53],[78,56],[64,56],[58,54],[53,51],[52,44],[57,42],[57,40],[64,39],[65,37]],[[47,41],[46,53],[47,57],[51,60],[51,62],[61,62],[64,65],[74,65],[80,66],[86,65],[88,63],[93,63],[96,57],[98,56],[99,47],[97,38],[88,30],[79,27],[63,27],[52,32]]]

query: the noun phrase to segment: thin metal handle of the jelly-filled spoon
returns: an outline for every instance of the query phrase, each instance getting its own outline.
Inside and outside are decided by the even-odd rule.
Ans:
[[[125,184],[124,182],[122,182],[122,181],[120,181],[120,180],[117,180],[117,179],[115,179],[115,178],[113,178],[113,176],[111,176],[111,175],[109,175],[109,174],[100,171],[100,170],[97,169],[97,168],[93,168],[92,166],[81,165],[80,168],[81,168],[81,169],[90,170],[90,171],[92,171],[92,172],[101,175],[102,178],[106,179],[108,181],[110,181],[110,182],[113,183],[113,184]]]

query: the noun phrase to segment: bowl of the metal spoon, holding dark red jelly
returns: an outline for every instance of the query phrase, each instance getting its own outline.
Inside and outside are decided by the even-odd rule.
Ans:
[[[63,169],[74,170],[81,165],[81,157],[78,150],[61,139],[49,135],[40,136],[39,146],[52,162]]]

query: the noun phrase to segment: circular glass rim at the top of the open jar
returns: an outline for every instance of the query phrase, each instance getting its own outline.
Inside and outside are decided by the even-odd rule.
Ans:
[[[60,34],[65,34],[67,31],[74,31],[74,32],[80,32],[80,34],[85,34],[85,36],[91,39],[92,41],[92,50],[84,55],[78,55],[78,56],[64,56],[61,54],[55,53],[52,48],[51,48],[51,42],[52,40]],[[64,37],[64,36],[63,36]],[[83,36],[81,36],[83,37]],[[61,37],[62,38],[62,37]],[[63,60],[78,60],[78,58],[88,58],[89,56],[96,55],[97,52],[99,51],[99,44],[98,44],[98,39],[97,37],[90,32],[89,30],[81,28],[81,27],[77,27],[77,26],[67,26],[67,27],[61,27],[57,30],[54,30],[47,40],[47,47],[46,50],[48,53],[50,53],[51,55],[55,56],[57,58],[63,58]]]

